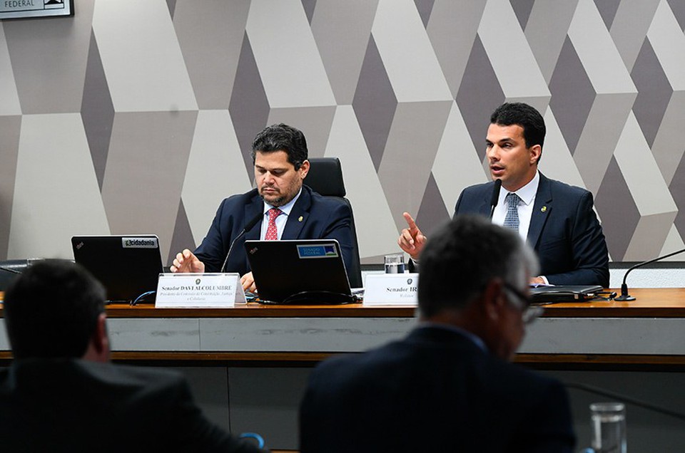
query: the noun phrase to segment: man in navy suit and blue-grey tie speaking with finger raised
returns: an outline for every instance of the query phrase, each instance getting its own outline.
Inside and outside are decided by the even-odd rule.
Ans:
[[[492,222],[519,231],[537,253],[541,272],[532,283],[607,287],[609,253],[592,209],[592,194],[537,170],[544,135],[544,119],[530,105],[505,103],[492,113],[485,140],[487,160],[492,179],[502,181]],[[455,216],[489,215],[493,187],[494,182],[488,182],[464,189]],[[397,242],[415,262],[425,236],[410,214],[404,215],[409,227]]]

